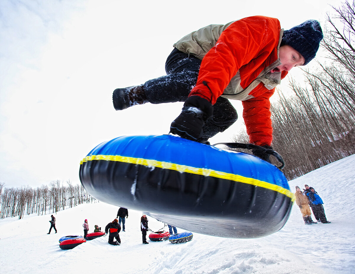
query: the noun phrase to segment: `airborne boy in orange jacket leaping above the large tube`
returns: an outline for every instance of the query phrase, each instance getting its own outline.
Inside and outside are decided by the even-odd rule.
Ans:
[[[185,102],[170,133],[208,143],[237,120],[228,99],[240,100],[250,143],[272,149],[269,99],[291,68],[307,65],[316,56],[322,39],[316,20],[289,30],[266,16],[212,24],[173,45],[166,76],[115,89],[113,105],[124,110],[146,102]],[[264,151],[252,153],[269,161]]]

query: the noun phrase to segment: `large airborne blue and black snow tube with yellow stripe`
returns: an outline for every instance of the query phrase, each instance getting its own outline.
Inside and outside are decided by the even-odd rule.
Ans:
[[[274,165],[172,135],[104,142],[83,158],[79,175],[100,201],[221,237],[247,239],[278,231],[294,199]]]

